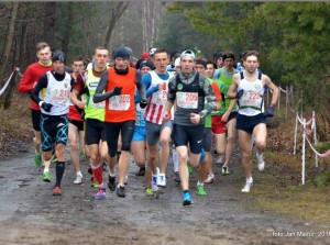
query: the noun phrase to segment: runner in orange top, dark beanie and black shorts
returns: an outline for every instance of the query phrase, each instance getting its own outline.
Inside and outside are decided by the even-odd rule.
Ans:
[[[135,87],[141,96],[140,107],[146,107],[145,90],[141,82],[141,74],[130,67],[130,53],[123,46],[119,46],[113,52],[114,67],[106,70],[97,87],[94,103],[106,101],[106,137],[109,146],[111,160],[116,159],[118,148],[118,137],[121,133],[122,146],[119,157],[119,182],[117,196],[124,198],[125,176],[130,165],[130,146],[134,132]],[[105,91],[105,92],[103,92]]]

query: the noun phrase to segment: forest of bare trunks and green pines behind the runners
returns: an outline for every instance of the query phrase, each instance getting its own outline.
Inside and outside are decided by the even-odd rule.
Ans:
[[[293,86],[297,111],[316,110],[330,132],[330,3],[328,2],[0,2],[0,88],[14,67],[35,62],[35,44],[62,49],[68,60],[90,58],[98,45],[118,45],[134,56],[150,47],[256,49],[261,67],[278,86]],[[238,59],[237,59],[238,60]],[[10,109],[19,76],[0,98]],[[301,111],[302,112],[302,111]],[[324,133],[323,133],[324,134]],[[323,135],[327,137],[327,134]]]

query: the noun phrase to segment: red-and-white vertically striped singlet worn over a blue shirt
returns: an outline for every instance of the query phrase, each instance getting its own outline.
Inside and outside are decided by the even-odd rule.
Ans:
[[[158,85],[158,90],[148,98],[145,109],[145,120],[152,123],[162,124],[167,101],[168,81],[173,77],[173,74],[169,74],[166,80],[162,79],[154,70],[148,74],[151,76],[150,88]]]

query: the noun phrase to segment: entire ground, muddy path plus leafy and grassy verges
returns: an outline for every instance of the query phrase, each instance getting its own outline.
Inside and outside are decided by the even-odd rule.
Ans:
[[[22,110],[21,108],[24,108]],[[144,196],[144,178],[129,169],[128,197],[120,199],[107,190],[105,200],[92,199],[86,162],[84,183],[73,183],[69,157],[63,196],[53,197],[55,179],[41,179],[33,164],[30,111],[26,104],[1,111],[0,124],[0,244],[329,244],[329,187],[316,185],[318,175],[329,169],[324,158],[315,167],[307,154],[306,183],[301,185],[301,143],[293,155],[294,120],[271,122],[265,153],[266,167],[257,171],[254,186],[242,193],[244,174],[239,145],[231,164],[232,175],[206,186],[207,197],[198,197],[196,172],[190,176],[195,203],[182,205],[180,186],[172,180],[158,199]],[[69,149],[68,149],[69,151]],[[300,154],[300,155],[299,155]]]

